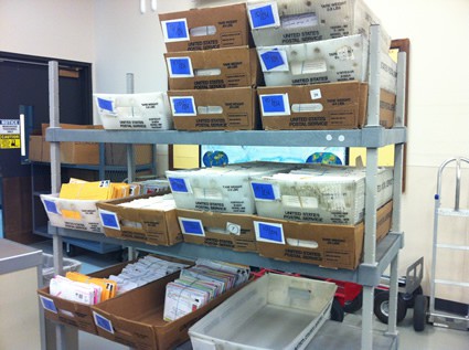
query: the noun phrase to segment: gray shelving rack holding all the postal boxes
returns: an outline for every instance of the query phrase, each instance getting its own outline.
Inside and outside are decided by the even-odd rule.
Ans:
[[[138,140],[139,144],[186,144],[186,145],[252,145],[252,146],[339,146],[339,147],[365,147],[366,148],[366,199],[365,199],[365,237],[363,263],[355,271],[326,269],[315,265],[301,263],[285,263],[260,257],[252,253],[237,253],[216,247],[180,243],[171,247],[146,245],[137,242],[126,241],[126,245],[149,252],[158,252],[167,255],[196,257],[204,256],[231,262],[251,264],[253,266],[265,266],[283,271],[291,271],[310,276],[332,277],[363,285],[363,309],[362,327],[352,329],[339,322],[328,322],[327,328],[332,338],[347,339],[340,341],[343,349],[395,349],[397,348],[396,309],[397,309],[397,259],[398,252],[404,245],[404,233],[401,231],[401,191],[403,174],[403,148],[406,141],[406,129],[404,127],[405,105],[405,53],[399,53],[397,75],[397,100],[395,126],[384,129],[380,126],[380,28],[371,28],[370,43],[370,92],[367,106],[367,125],[363,129],[354,130],[295,130],[295,131],[111,131],[111,130],[63,130],[58,127],[56,96],[56,66],[50,65],[51,81],[51,127],[46,131],[46,139],[51,142],[52,189],[57,192],[60,188],[60,158],[58,144],[61,141],[94,141],[94,142],[119,142],[130,145]],[[54,93],[55,92],[55,93]],[[292,137],[295,136],[295,137]],[[394,145],[395,168],[393,189],[393,221],[391,233],[376,244],[376,178],[377,178],[377,149],[383,146]],[[131,156],[131,151],[129,151]],[[129,178],[135,172],[134,159],[128,158]],[[54,237],[54,266],[58,273],[62,269],[62,237],[87,237],[103,242],[115,242],[102,235],[86,232],[77,232],[50,226],[49,231]],[[374,287],[379,284],[383,271],[390,266],[390,321],[387,331],[376,335],[373,331],[373,296]],[[353,335],[351,337],[350,335]],[[57,344],[61,340],[57,331]],[[330,339],[332,339],[330,338]],[[352,339],[353,338],[353,339]],[[383,341],[384,339],[384,341]],[[351,343],[349,340],[356,343]],[[319,337],[316,341],[323,341]],[[326,341],[327,342],[327,341]],[[324,343],[320,344],[321,348]],[[310,344],[315,347],[315,344]],[[65,347],[64,347],[65,348]],[[327,349],[328,347],[326,347]],[[331,349],[340,349],[333,344]]]

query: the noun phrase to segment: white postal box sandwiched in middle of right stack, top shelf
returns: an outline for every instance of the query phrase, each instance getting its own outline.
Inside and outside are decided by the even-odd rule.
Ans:
[[[369,81],[369,42],[363,35],[257,46],[267,86]],[[380,87],[396,93],[396,63],[381,52]]]

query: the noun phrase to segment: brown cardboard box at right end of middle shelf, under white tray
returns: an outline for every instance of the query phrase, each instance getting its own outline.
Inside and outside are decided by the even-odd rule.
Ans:
[[[377,211],[376,241],[391,230],[393,203]],[[262,256],[331,268],[354,269],[363,254],[364,223],[328,225],[267,218],[255,219],[257,250]]]

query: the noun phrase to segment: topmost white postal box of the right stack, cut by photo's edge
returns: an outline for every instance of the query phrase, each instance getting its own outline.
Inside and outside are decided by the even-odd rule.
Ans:
[[[256,46],[299,44],[353,34],[369,40],[370,25],[381,20],[362,0],[249,1],[249,25]],[[380,28],[381,47],[390,50],[391,36]]]

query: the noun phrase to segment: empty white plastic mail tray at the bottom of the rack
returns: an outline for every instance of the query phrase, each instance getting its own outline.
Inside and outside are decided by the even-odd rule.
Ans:
[[[335,284],[267,274],[189,329],[198,349],[305,349],[329,319]]]

